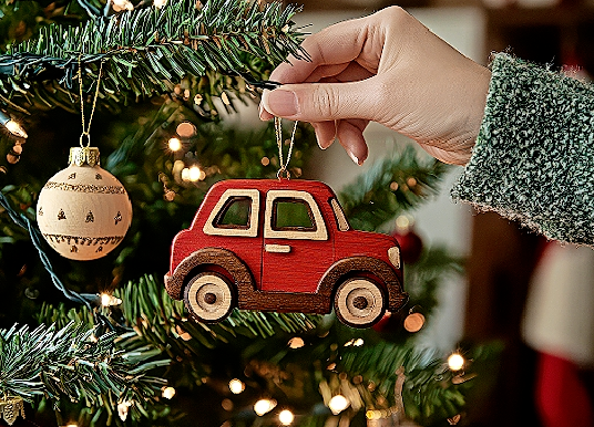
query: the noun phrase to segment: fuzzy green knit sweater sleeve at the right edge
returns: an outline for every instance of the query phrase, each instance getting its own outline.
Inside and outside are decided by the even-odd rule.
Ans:
[[[594,88],[504,53],[491,71],[453,199],[551,239],[594,244]]]

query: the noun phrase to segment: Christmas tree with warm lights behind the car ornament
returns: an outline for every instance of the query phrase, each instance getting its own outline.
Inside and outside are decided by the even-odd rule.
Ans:
[[[413,233],[399,236],[408,239],[409,302],[368,330],[334,313],[243,310],[204,324],[165,292],[172,240],[212,185],[277,179],[284,136],[272,123],[239,131],[224,117],[257,101],[289,54],[307,58],[297,12],[244,0],[0,4],[0,423],[25,423],[24,413],[42,426],[460,420],[491,353],[474,348],[448,363],[416,344],[440,280],[460,273],[461,260],[422,248]],[[39,229],[38,200],[70,148],[84,152],[91,136],[102,157],[93,179],[115,176],[133,217],[113,250],[81,262],[72,258],[91,238],[69,240],[60,257]],[[288,171],[307,177],[310,128],[299,125],[295,142]],[[445,170],[402,149],[338,196],[352,228],[389,232],[438,190]],[[89,214],[85,222],[99,227]]]

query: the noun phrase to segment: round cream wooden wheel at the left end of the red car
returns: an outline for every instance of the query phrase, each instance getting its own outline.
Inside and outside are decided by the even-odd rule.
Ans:
[[[184,303],[199,322],[219,322],[234,308],[234,294],[228,281],[215,272],[203,272],[190,280],[184,290]]]

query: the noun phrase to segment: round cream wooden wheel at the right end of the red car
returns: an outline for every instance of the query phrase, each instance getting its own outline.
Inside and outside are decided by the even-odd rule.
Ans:
[[[352,327],[371,326],[386,311],[383,291],[365,278],[342,282],[336,291],[334,303],[338,319]]]

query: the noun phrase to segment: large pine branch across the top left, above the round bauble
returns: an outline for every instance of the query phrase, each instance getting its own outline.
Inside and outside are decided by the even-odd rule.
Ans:
[[[9,46],[0,56],[0,100],[21,112],[72,104],[79,60],[88,91],[105,62],[103,103],[126,104],[172,92],[188,75],[207,75],[212,92],[221,94],[227,80],[221,74],[259,80],[288,54],[306,55],[299,48],[304,34],[293,29],[297,10],[283,10],[278,2],[260,10],[258,2],[247,0],[211,0],[199,9],[190,1],[171,1],[162,9],[137,9],[78,28],[42,27],[37,38]],[[231,84],[238,87],[239,82],[233,77]]]

